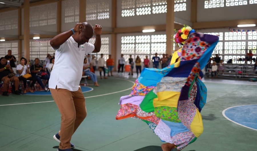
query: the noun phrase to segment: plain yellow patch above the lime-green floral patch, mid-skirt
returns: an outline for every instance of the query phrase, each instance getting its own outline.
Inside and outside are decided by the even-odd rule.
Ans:
[[[158,98],[153,99],[154,107],[168,106],[177,107],[180,92],[163,91],[157,92]]]

